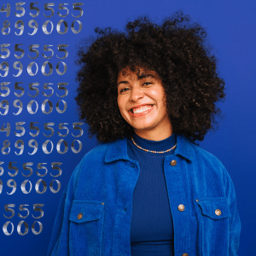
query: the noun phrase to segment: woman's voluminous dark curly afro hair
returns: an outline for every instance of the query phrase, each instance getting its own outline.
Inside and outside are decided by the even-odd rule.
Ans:
[[[132,135],[117,104],[117,78],[125,67],[143,67],[160,76],[173,132],[195,143],[218,125],[216,102],[224,99],[224,80],[218,77],[207,32],[189,15],[177,11],[160,26],[140,17],[128,22],[125,32],[109,27],[95,32],[96,38],[80,42],[75,60],[82,64],[75,100],[79,118],[90,126],[90,137],[108,143]]]

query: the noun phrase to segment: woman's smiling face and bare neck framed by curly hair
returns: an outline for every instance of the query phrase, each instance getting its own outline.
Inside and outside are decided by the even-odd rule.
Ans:
[[[131,69],[123,69],[119,72],[119,111],[138,136],[163,140],[172,135],[171,121],[164,104],[164,87],[157,73],[142,67],[139,70],[139,77],[137,70],[132,72]]]

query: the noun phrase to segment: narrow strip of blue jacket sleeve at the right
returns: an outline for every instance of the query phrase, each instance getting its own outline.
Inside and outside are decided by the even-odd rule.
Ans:
[[[236,192],[230,175],[227,173],[226,195],[230,208],[230,256],[237,256],[241,232],[241,221],[236,207]]]

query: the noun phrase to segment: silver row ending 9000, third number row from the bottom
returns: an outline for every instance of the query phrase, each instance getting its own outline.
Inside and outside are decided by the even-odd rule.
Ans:
[[[27,190],[27,186],[26,186],[27,183],[29,184],[29,190]],[[43,189],[42,189],[42,190],[39,189],[39,186],[40,186],[41,183],[43,184]],[[54,184],[56,184],[56,185],[58,186],[57,189],[54,189]],[[9,193],[9,192],[6,192],[7,195],[13,195],[13,194],[15,194],[15,191],[16,191],[16,189],[17,189],[17,183],[15,182],[15,180],[14,180],[14,179],[9,179],[9,180],[7,181],[7,186],[8,186],[9,188],[12,188],[12,191],[11,191],[10,193]],[[29,193],[31,192],[31,190],[32,190],[32,183],[31,183],[31,181],[28,180],[28,179],[26,179],[24,182],[22,182],[22,183],[20,184],[20,189],[21,189],[21,191],[22,191],[23,194],[29,194]],[[37,192],[38,194],[44,194],[45,191],[47,190],[46,182],[45,182],[42,178],[38,179],[38,181],[37,181],[37,183],[36,183],[36,185],[35,185],[35,189],[36,189],[36,192]],[[58,181],[58,180],[56,180],[56,179],[53,179],[53,180],[50,182],[50,184],[49,184],[49,189],[50,189],[50,191],[51,191],[52,193],[54,193],[54,194],[55,194],[55,193],[58,193],[58,192],[60,191],[60,189],[61,189],[61,182]],[[2,191],[3,191],[3,182],[2,182],[2,180],[0,179],[0,194],[2,193]]]

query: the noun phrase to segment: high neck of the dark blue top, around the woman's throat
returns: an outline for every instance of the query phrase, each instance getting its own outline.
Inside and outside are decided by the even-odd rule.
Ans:
[[[138,146],[140,146],[144,149],[154,150],[154,151],[165,151],[167,149],[172,148],[176,143],[176,134],[175,133],[173,133],[170,137],[167,137],[166,139],[161,140],[161,141],[151,141],[151,140],[145,139],[143,137],[139,137],[135,132],[132,135],[132,137]],[[129,141],[131,142],[131,139]],[[134,147],[136,147],[132,142],[131,142],[131,144]],[[137,149],[142,150],[140,148],[137,148]],[[151,153],[151,154],[153,154],[153,153]]]

